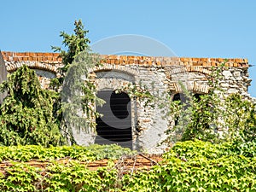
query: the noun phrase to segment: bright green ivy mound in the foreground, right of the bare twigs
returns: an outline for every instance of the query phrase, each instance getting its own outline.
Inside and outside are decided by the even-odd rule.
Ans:
[[[232,143],[176,143],[166,161],[149,172],[123,178],[125,191],[255,191],[256,158],[231,149]],[[255,150],[255,148],[253,149]]]

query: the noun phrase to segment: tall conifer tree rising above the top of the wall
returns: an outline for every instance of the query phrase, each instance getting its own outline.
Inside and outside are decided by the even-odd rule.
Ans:
[[[94,118],[98,116],[95,103],[103,101],[96,97],[96,86],[90,82],[89,70],[99,64],[99,56],[90,50],[90,40],[86,37],[88,30],[84,30],[81,20],[74,22],[74,34],[61,32],[62,44],[66,49],[53,46],[54,51],[60,52],[64,67],[61,77],[52,79],[51,87],[59,92],[58,119],[61,129],[73,143],[73,127],[78,130],[95,133]],[[60,91],[61,88],[61,91]],[[82,109],[83,113],[81,115]]]

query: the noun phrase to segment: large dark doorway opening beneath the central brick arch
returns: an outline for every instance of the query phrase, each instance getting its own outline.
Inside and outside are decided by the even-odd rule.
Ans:
[[[95,143],[117,143],[132,148],[130,97],[124,92],[115,93],[112,90],[99,91],[97,96],[106,103],[96,108],[103,116],[96,119]]]

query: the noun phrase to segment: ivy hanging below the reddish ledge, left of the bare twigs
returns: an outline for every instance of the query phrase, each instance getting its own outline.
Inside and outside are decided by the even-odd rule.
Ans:
[[[90,172],[79,162],[50,165],[47,169],[17,163],[0,176],[1,191],[114,191],[116,170]]]

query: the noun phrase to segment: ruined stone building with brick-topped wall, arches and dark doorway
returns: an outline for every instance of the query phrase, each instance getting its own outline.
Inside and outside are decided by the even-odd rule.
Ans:
[[[48,88],[50,79],[58,75],[57,69],[62,66],[61,58],[56,53],[3,51],[2,55],[8,73],[13,73],[18,67],[27,65],[38,74],[44,89]],[[77,132],[74,134],[77,143],[86,145],[94,142],[105,143],[106,140],[133,149],[146,150],[149,153],[159,153],[165,147],[159,143],[166,137],[165,131],[172,125],[172,119],[161,118],[166,113],[165,108],[145,107],[143,103],[130,98],[125,92],[115,94],[114,90],[126,84],[143,84],[154,94],[157,92],[158,95],[164,96],[165,93],[169,93],[173,99],[177,99],[178,94],[182,92],[178,83],[180,80],[191,92],[207,94],[212,67],[218,67],[224,62],[221,58],[130,55],[102,55],[102,58],[104,58],[102,67],[92,69],[90,78],[96,84],[98,96],[104,98],[111,95],[108,104],[113,106],[117,123],[107,125],[104,124],[104,120],[97,119],[98,136],[93,137],[95,141],[88,142],[85,134]],[[247,89],[251,82],[251,79],[248,79],[248,67],[247,59],[228,59],[225,62],[220,86],[227,94],[238,92],[248,96]],[[105,113],[105,117],[108,117],[108,113]],[[119,119],[125,120],[119,121]],[[116,129],[116,126],[124,128]]]

